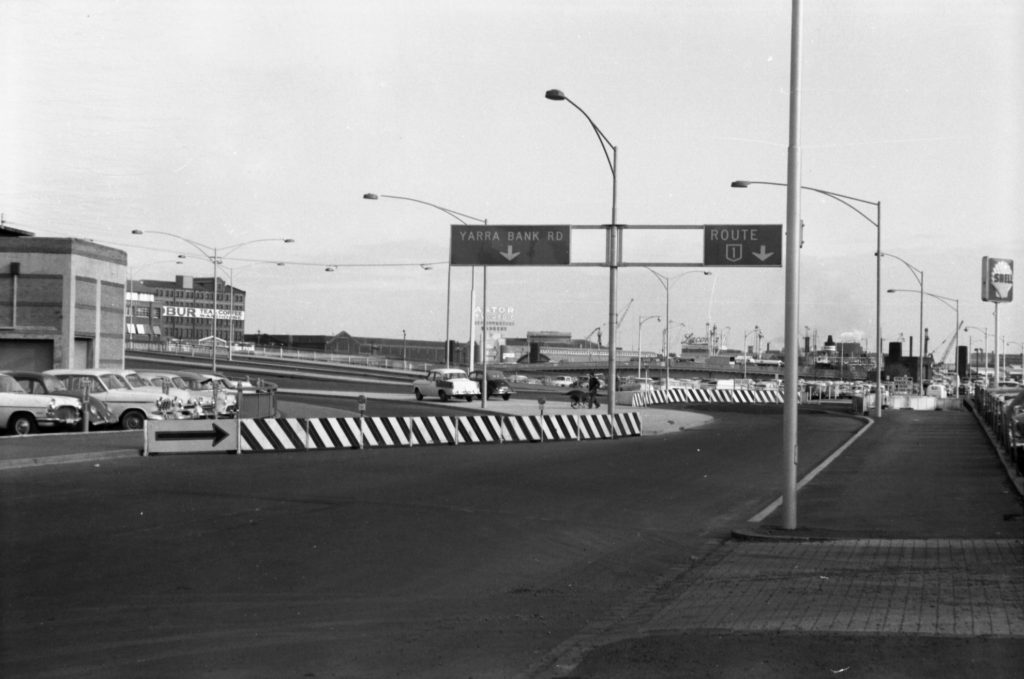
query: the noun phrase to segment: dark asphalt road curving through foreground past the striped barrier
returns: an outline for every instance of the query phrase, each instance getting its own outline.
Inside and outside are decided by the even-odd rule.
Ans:
[[[716,418],[628,440],[6,470],[0,674],[528,675],[773,499],[779,414]],[[858,424],[802,417],[804,470]]]

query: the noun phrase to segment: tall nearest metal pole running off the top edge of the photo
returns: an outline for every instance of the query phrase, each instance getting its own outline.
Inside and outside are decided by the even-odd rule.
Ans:
[[[797,528],[797,438],[800,362],[800,0],[793,0],[790,52],[790,146],[786,163],[785,367],[782,407],[782,527]]]

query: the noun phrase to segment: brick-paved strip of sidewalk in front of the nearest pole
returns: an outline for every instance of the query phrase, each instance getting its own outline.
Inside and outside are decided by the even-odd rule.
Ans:
[[[690,629],[1024,637],[1024,541],[723,544],[635,620]],[[670,591],[671,590],[671,591]]]

